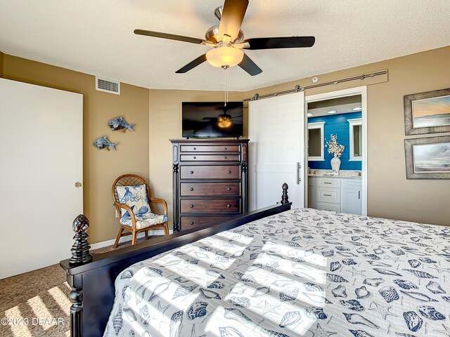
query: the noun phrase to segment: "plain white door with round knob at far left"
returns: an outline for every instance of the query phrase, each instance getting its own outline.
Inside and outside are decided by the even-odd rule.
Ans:
[[[0,79],[0,279],[70,256],[83,95]]]

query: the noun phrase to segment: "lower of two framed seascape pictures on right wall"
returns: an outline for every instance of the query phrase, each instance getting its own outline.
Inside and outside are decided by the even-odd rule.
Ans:
[[[405,139],[406,179],[450,179],[450,136]]]

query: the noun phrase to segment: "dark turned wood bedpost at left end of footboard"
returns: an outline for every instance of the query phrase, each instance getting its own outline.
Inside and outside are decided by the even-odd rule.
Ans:
[[[70,266],[82,265],[92,260],[89,250],[91,246],[87,242],[89,220],[80,214],[73,221],[73,231],[75,232],[75,243],[72,246],[72,258],[69,260]],[[83,336],[83,279],[82,275],[67,275],[68,284],[72,287],[70,291],[70,336]]]

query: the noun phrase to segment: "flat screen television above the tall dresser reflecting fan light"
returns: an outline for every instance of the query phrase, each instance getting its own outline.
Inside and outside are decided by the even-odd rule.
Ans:
[[[183,102],[183,137],[239,138],[243,136],[242,102]]]

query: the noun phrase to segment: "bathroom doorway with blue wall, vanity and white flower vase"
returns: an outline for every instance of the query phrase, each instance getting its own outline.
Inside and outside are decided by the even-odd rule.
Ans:
[[[366,86],[305,97],[307,206],[367,215]]]

